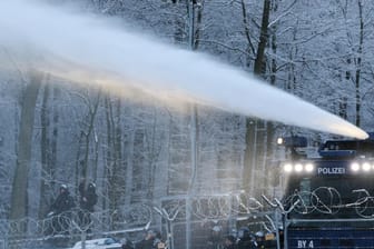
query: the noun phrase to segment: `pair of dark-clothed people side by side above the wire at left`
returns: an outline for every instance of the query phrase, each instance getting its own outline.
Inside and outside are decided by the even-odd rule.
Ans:
[[[90,213],[94,212],[94,207],[98,201],[96,193],[96,185],[89,182],[86,186],[86,180],[81,180],[78,187],[79,190],[79,223],[80,226],[89,226],[91,222]],[[59,195],[50,206],[49,217],[52,217],[53,232],[60,232],[68,228],[68,218],[71,217],[72,208],[77,207],[75,198],[66,185],[60,185]]]

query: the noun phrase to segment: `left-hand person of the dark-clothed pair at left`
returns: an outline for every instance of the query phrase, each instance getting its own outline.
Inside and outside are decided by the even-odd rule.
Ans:
[[[52,217],[52,233],[67,231],[69,229],[70,210],[76,207],[66,185],[60,186],[60,192],[50,207],[49,217]]]

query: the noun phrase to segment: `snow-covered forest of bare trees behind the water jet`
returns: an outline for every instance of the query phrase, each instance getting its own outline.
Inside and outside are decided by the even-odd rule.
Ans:
[[[119,27],[207,54],[373,130],[373,1],[46,2],[115,18]],[[278,162],[285,155],[276,145],[278,136],[306,136],[311,147],[337,137],[194,101],[170,103],[158,98],[163,92],[157,89],[115,93],[105,84],[26,70],[6,43],[0,48],[1,241],[30,237],[32,222],[47,218],[60,186],[78,198],[78,186],[87,179],[97,187],[97,235],[149,220],[160,228],[175,215],[175,229],[187,230],[175,240],[190,249],[196,223],[227,220],[217,205],[227,196],[282,196]],[[170,212],[159,212],[161,208]],[[20,227],[10,229],[20,220]]]

